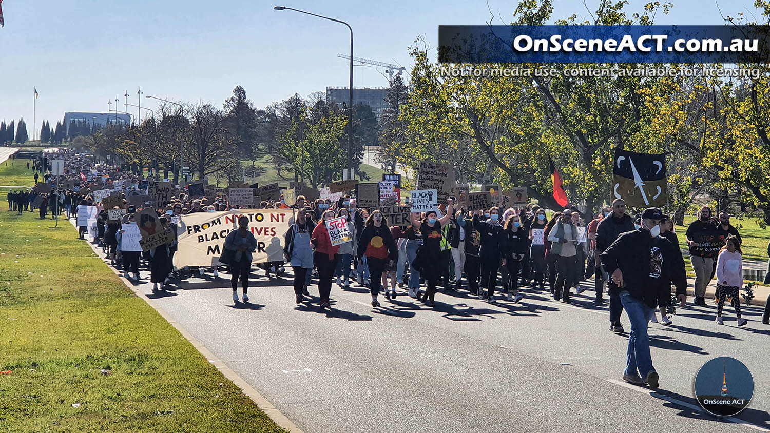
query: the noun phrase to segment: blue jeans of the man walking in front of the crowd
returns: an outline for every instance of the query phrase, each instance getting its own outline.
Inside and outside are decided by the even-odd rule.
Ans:
[[[628,314],[628,320],[631,321],[625,374],[633,375],[638,370],[641,378],[646,378],[650,371],[655,370],[652,367],[650,340],[647,335],[647,324],[653,310],[641,299],[631,296],[628,291],[621,291],[620,298]]]

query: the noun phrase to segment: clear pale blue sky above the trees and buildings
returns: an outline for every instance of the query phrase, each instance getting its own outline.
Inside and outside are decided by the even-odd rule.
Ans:
[[[417,35],[437,44],[440,24],[484,24],[487,0],[372,2],[286,0],[285,5],[350,22],[355,55],[407,66]],[[647,0],[631,0],[629,11]],[[32,137],[33,88],[37,125],[55,124],[65,112],[106,112],[117,95],[137,103],[145,95],[213,102],[221,106],[236,85],[263,108],[295,92],[306,97],[348,82],[350,51],[344,25],[291,11],[283,0],[5,0],[0,28],[0,119],[24,117]],[[588,17],[578,0],[556,0],[554,18]],[[589,5],[597,1],[588,0]],[[722,24],[713,0],[674,0],[657,24]],[[488,0],[511,22],[515,0]],[[725,15],[754,12],[752,0],[720,0]],[[377,68],[356,67],[355,86],[381,86]],[[142,98],[142,107],[156,102]],[[112,108],[115,108],[113,102]],[[129,107],[136,115],[136,108]]]

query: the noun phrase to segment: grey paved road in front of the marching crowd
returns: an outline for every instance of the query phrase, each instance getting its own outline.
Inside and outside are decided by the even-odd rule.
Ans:
[[[651,325],[661,375],[651,393],[618,381],[627,337],[608,331],[607,308],[587,296],[565,305],[526,292],[521,305],[489,305],[458,291],[437,295],[435,311],[406,295],[373,309],[365,289],[334,286],[333,310],[319,312],[294,305],[287,279],[256,278],[250,303],[235,304],[225,276],[153,295],[142,271],[134,287],[306,432],[770,428],[770,328],[758,308],[745,308],[744,328],[729,310],[715,325],[714,308]],[[721,355],[752,370],[755,395],[739,418],[754,426],[705,415],[691,396],[698,368]]]

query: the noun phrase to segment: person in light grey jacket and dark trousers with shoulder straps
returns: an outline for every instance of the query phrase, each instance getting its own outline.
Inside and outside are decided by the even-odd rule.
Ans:
[[[570,288],[577,268],[577,227],[572,223],[572,211],[564,209],[558,221],[548,234],[551,254],[556,256],[557,278],[554,300],[570,303]]]

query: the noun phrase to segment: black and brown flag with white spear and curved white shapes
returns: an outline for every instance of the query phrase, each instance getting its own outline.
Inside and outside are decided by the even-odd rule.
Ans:
[[[612,196],[638,208],[666,204],[666,155],[615,151]]]

